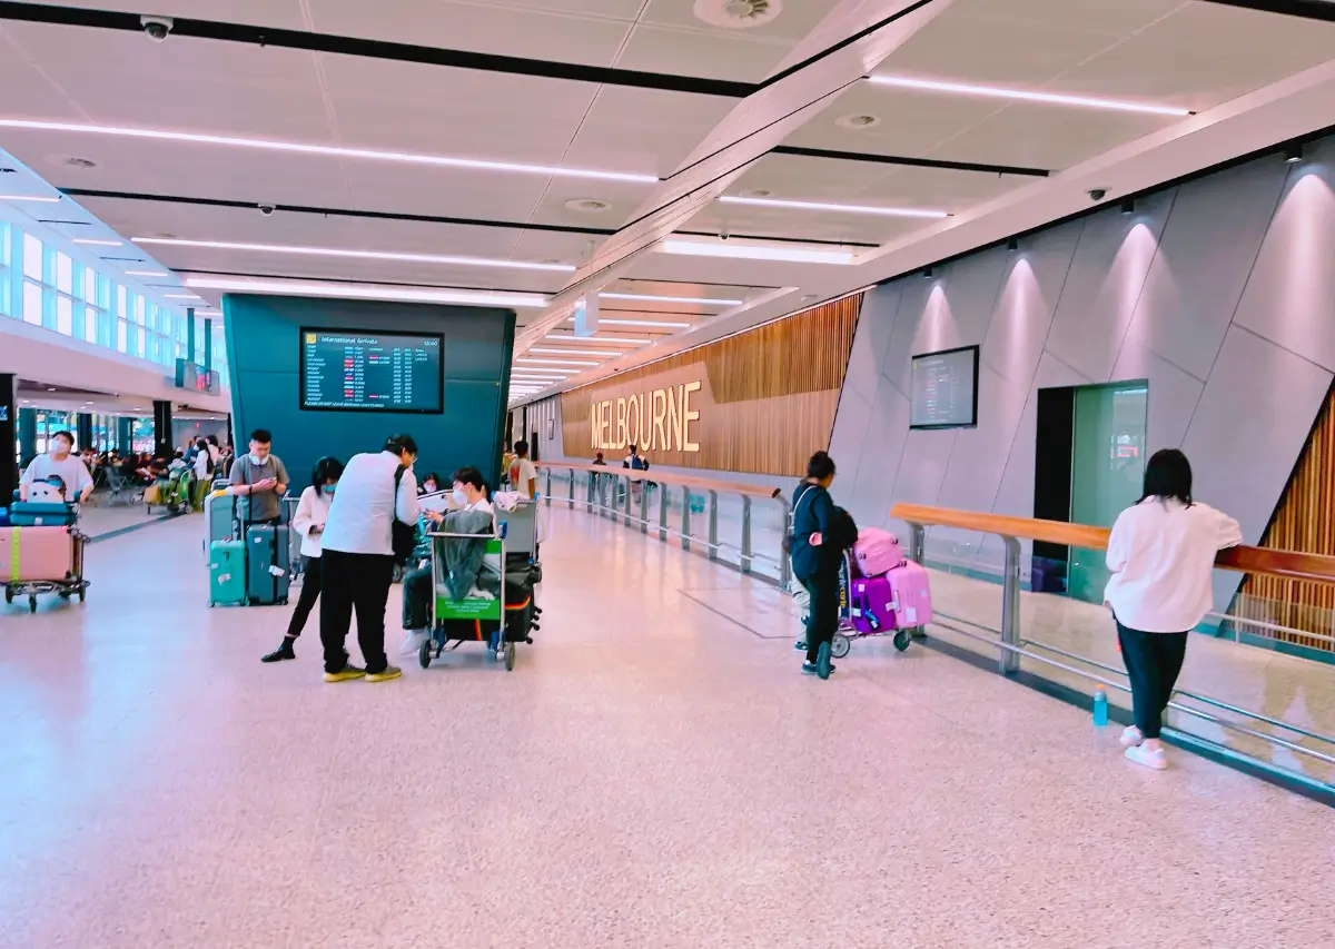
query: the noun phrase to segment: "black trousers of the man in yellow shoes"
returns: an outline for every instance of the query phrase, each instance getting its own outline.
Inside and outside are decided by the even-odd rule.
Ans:
[[[336,673],[347,665],[347,631],[356,611],[356,642],[362,647],[366,671],[383,673],[384,605],[394,583],[394,557],[390,554],[346,554],[326,550],[320,557],[324,595],[320,597],[320,642],[324,643],[324,671]]]

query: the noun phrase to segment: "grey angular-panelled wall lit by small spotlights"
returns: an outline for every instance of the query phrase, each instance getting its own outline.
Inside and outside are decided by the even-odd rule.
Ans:
[[[1181,447],[1196,495],[1259,542],[1335,372],[1335,140],[1307,155],[869,294],[832,438],[858,523],[888,523],[894,502],[1032,517],[1037,391],[1144,378],[1151,451]],[[909,431],[910,356],[973,343],[977,428]],[[979,539],[934,535],[943,550]],[[1220,603],[1236,583],[1220,574]]]

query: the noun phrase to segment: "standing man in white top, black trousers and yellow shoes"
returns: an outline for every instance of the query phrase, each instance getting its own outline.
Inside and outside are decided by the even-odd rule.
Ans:
[[[384,682],[403,674],[384,655],[384,603],[396,563],[394,523],[415,526],[421,511],[415,460],[413,436],[391,435],[380,451],[352,455],[339,479],[320,539],[326,682]],[[354,611],[364,669],[350,665],[343,649]]]

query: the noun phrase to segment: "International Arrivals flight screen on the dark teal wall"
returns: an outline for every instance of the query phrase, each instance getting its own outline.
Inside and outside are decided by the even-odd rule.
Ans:
[[[443,336],[302,330],[302,408],[439,412]]]

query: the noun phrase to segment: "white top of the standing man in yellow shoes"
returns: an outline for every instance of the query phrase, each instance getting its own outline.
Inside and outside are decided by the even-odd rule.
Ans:
[[[421,514],[411,470],[403,472],[398,498],[394,497],[394,472],[399,464],[399,456],[388,451],[352,455],[330,503],[320,538],[323,550],[384,557],[394,553],[390,523],[398,518],[415,525]]]

